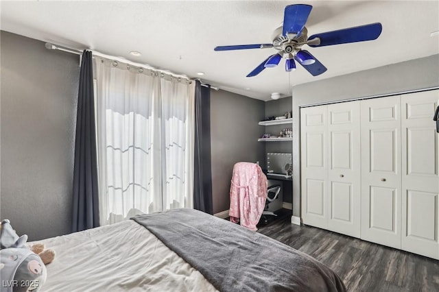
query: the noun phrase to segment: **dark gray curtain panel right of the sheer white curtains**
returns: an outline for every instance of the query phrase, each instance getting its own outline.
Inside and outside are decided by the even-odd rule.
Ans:
[[[211,171],[211,88],[195,84],[193,208],[213,214]]]

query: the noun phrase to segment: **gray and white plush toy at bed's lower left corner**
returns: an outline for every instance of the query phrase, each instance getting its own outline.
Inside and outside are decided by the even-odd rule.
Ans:
[[[0,292],[38,291],[47,277],[40,256],[25,247],[27,235],[18,236],[9,220],[0,228]]]

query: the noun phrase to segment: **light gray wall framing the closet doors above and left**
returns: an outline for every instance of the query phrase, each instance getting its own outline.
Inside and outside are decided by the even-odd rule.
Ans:
[[[293,215],[300,216],[300,106],[434,86],[439,86],[439,55],[294,86]],[[433,114],[434,112],[431,113],[431,119]]]

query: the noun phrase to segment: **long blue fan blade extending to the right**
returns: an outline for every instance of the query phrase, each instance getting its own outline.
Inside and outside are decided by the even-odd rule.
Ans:
[[[320,38],[320,45],[309,45],[310,47],[323,47],[330,45],[346,44],[348,42],[364,42],[365,40],[375,40],[381,34],[383,27],[381,23],[371,23],[357,27],[350,27],[333,32],[313,34],[308,38]]]

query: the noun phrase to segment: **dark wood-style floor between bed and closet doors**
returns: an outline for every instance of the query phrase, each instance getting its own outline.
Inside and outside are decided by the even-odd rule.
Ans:
[[[439,291],[438,260],[290,221],[283,210],[258,232],[320,260],[348,291]]]

